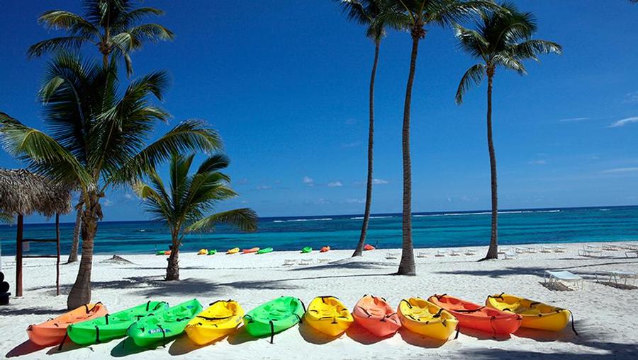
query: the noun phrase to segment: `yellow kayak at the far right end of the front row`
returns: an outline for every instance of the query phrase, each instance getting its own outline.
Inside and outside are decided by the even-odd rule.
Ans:
[[[561,331],[569,323],[571,316],[567,309],[508,294],[490,295],[485,305],[496,310],[516,313],[522,318],[521,327],[537,330]]]

